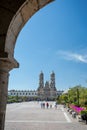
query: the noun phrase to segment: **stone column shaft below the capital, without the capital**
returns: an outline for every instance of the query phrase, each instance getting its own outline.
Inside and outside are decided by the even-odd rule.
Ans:
[[[1,69],[1,68],[0,68]],[[9,73],[0,70],[0,130],[4,130]]]

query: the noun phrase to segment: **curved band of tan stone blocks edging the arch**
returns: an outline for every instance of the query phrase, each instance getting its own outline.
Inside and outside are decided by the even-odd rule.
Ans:
[[[33,16],[34,13],[52,1],[54,0],[26,0],[19,8],[7,31],[5,52],[8,53],[9,58],[14,57],[16,39],[25,23],[31,18],[31,16]]]

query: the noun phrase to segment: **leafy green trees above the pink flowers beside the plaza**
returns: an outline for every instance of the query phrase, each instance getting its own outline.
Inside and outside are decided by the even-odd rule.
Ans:
[[[59,97],[60,103],[75,104],[77,106],[87,106],[87,88],[81,85],[74,86],[65,94]]]

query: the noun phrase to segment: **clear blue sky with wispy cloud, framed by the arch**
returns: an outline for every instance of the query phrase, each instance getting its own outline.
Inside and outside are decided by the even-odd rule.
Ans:
[[[9,89],[36,90],[55,72],[58,90],[87,87],[87,0],[56,0],[21,30],[15,46],[20,67],[10,72]]]

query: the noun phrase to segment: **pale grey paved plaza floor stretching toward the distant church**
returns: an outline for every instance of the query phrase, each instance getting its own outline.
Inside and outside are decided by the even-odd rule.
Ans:
[[[57,109],[41,108],[41,102],[23,102],[7,105],[5,130],[86,130],[87,125],[73,119],[58,105]]]

